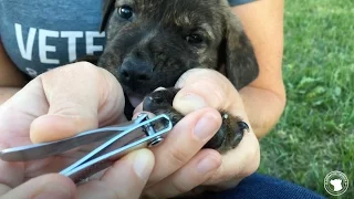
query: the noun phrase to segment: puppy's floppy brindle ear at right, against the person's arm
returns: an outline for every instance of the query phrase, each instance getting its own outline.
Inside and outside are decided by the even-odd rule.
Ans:
[[[237,90],[251,83],[259,73],[259,66],[251,42],[242,30],[241,22],[231,12],[226,13],[225,56],[226,76]]]

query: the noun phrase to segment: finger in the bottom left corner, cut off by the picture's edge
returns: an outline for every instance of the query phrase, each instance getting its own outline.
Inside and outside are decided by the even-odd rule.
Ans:
[[[0,192],[1,195],[1,192]],[[32,178],[8,191],[2,199],[12,198],[51,198],[69,199],[75,196],[75,185],[60,175],[45,175]]]

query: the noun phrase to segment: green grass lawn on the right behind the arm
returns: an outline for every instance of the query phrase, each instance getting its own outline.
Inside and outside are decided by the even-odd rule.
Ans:
[[[288,105],[261,140],[259,171],[327,198],[354,198],[354,1],[285,1],[283,74]],[[323,179],[343,171],[331,197]]]

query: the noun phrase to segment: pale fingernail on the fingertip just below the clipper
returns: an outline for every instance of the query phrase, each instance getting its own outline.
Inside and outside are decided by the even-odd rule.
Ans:
[[[150,156],[146,151],[138,151],[134,157],[134,171],[140,179],[147,179],[152,172]]]

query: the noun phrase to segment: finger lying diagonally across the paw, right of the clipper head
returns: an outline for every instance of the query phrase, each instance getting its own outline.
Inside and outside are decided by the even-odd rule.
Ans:
[[[159,146],[153,147],[156,164],[148,187],[170,176],[187,164],[220,128],[221,116],[214,108],[186,115]]]

